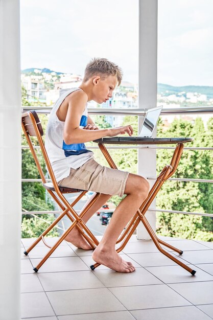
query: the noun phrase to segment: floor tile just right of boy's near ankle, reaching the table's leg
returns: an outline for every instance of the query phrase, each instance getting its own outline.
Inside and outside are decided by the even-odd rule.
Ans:
[[[137,254],[144,252],[159,252],[153,241],[128,242],[123,249],[125,254]]]

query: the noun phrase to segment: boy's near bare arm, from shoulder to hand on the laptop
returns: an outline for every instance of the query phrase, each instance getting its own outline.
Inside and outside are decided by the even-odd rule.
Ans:
[[[67,97],[67,113],[64,123],[63,140],[66,144],[84,143],[92,140],[103,138],[104,136],[115,136],[127,132],[132,135],[133,130],[131,126],[85,130],[79,128],[81,116],[87,103],[87,95],[83,92],[77,91]]]

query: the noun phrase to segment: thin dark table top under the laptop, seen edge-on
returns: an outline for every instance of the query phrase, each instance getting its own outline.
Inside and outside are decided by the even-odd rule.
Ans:
[[[94,140],[96,143],[116,145],[162,145],[192,142],[193,138],[141,138],[139,136],[113,136]]]

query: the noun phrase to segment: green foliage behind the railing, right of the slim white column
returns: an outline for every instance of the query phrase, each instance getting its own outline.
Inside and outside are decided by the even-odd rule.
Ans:
[[[213,134],[212,119],[204,128],[201,118],[194,123],[175,119],[168,129],[159,123],[158,136],[191,136],[194,147],[210,146],[209,136]],[[212,140],[211,140],[212,141]],[[157,151],[157,172],[170,162],[172,152],[167,149]],[[184,150],[180,164],[173,177],[188,179],[212,179],[213,156],[209,150]],[[213,186],[206,182],[167,181],[158,193],[157,207],[166,210],[213,213]],[[181,214],[157,214],[157,232],[161,235],[194,238],[205,241],[213,239],[211,217]]]

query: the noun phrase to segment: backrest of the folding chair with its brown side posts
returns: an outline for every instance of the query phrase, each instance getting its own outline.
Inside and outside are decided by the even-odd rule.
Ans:
[[[37,154],[35,152],[35,149],[34,149],[34,146],[33,146],[32,140],[31,140],[31,136],[35,136],[38,140],[46,167],[47,167],[48,172],[50,174],[50,178],[53,182],[55,190],[57,191],[58,190],[57,181],[56,181],[55,175],[53,173],[50,159],[48,157],[48,154],[46,153],[46,149],[45,149],[45,146],[44,146],[44,143],[42,140],[42,135],[43,135],[42,125],[41,125],[41,122],[40,122],[35,110],[31,110],[31,111],[27,111],[25,113],[22,113],[21,126],[23,129],[23,132],[25,133],[27,142],[29,144],[30,150],[32,152],[33,158],[35,160],[35,163],[38,168],[38,171],[41,176],[41,180],[42,180],[43,184],[46,183],[45,174],[42,170],[39,159],[38,159]]]

